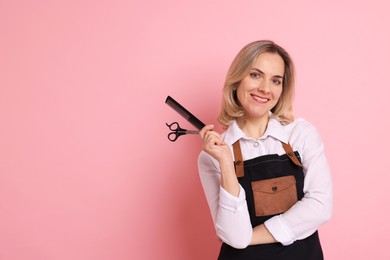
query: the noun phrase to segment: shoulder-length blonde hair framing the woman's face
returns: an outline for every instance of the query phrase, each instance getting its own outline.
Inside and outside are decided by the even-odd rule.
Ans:
[[[249,43],[234,58],[226,75],[223,88],[222,107],[218,122],[227,128],[231,120],[245,117],[245,111],[240,106],[235,91],[249,73],[257,57],[265,52],[276,53],[284,61],[283,90],[278,103],[271,109],[272,117],[282,124],[294,121],[292,100],[294,97],[295,69],[290,55],[272,41],[262,40]]]

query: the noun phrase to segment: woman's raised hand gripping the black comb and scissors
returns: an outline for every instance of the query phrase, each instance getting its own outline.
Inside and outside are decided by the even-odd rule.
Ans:
[[[219,163],[232,161],[232,154],[229,147],[217,132],[212,131],[213,128],[214,125],[206,125],[199,132],[203,140],[203,150]]]

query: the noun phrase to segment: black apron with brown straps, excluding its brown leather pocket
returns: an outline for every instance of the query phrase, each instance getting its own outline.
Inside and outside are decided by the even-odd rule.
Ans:
[[[269,218],[278,215],[259,216],[258,208],[255,207],[253,183],[272,178],[295,178],[296,199],[303,198],[303,168],[300,163],[299,153],[293,152],[289,144],[282,143],[286,154],[264,155],[250,160],[242,161],[240,143],[233,145],[235,156],[236,175],[239,183],[245,190],[249,215],[252,227],[263,224]],[[277,185],[272,186],[276,190]],[[295,189],[294,189],[295,190]],[[257,205],[256,205],[257,206]],[[285,211],[285,210],[284,210]],[[280,243],[248,246],[245,249],[236,249],[222,243],[219,260],[322,260],[324,259],[318,231],[311,236],[297,240],[291,245],[283,246]]]

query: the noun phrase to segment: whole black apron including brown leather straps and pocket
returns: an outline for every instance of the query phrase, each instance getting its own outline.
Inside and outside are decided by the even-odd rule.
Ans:
[[[303,166],[299,153],[282,143],[286,154],[269,154],[245,162],[239,140],[233,144],[236,175],[245,190],[252,227],[287,211],[303,198]],[[219,260],[322,260],[318,232],[289,246],[280,243],[236,249],[222,243]]]

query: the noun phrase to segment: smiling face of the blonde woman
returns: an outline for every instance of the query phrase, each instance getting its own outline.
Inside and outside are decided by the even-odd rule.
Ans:
[[[237,88],[237,98],[246,120],[268,120],[269,111],[282,93],[284,61],[277,53],[257,57],[248,75]]]

